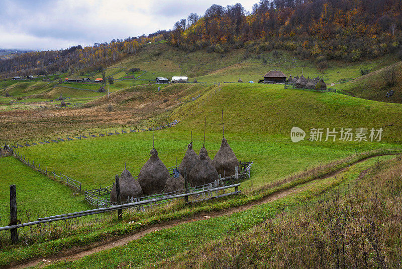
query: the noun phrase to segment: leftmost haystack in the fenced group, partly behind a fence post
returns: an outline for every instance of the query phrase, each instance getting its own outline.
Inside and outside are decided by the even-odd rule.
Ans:
[[[140,198],[144,196],[140,184],[127,169],[124,169],[120,175],[119,185],[122,202],[126,202],[128,198]],[[113,186],[110,193],[110,201],[117,202],[116,185]]]

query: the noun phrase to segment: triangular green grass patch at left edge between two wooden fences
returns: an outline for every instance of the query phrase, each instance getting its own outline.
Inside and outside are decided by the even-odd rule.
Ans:
[[[31,221],[38,216],[62,214],[66,211],[86,210],[90,207],[83,202],[82,195],[74,195],[70,188],[32,168],[14,157],[0,158],[0,225],[10,222],[9,186],[15,184],[17,189],[18,219]]]

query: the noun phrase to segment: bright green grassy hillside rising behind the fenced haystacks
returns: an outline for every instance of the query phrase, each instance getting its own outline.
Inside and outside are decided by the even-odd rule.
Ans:
[[[242,185],[243,188],[355,152],[400,147],[402,124],[398,119],[402,113],[401,105],[282,87],[225,84],[212,98],[211,94],[217,87],[209,87],[202,98],[178,107],[170,114],[170,119],[181,119],[184,113],[180,124],[156,132],[155,146],[160,158],[167,166],[173,165],[176,157],[180,162],[190,131],[193,131],[194,148],[199,150],[206,116],[206,147],[214,156],[222,139],[222,109],[225,136],[238,159],[255,161],[253,176]],[[184,109],[187,110],[184,112]],[[381,142],[310,142],[307,134],[305,141],[292,143],[289,134],[293,126],[307,133],[310,128],[324,128],[326,131],[327,128],[339,130],[342,127],[383,128],[384,131]],[[323,138],[325,140],[325,134]],[[125,162],[131,172],[137,174],[148,159],[151,148],[152,133],[143,132],[46,144],[35,146],[35,150],[28,147],[19,151],[38,163],[72,176],[83,183],[83,188],[90,189],[112,184],[114,175],[123,169]]]

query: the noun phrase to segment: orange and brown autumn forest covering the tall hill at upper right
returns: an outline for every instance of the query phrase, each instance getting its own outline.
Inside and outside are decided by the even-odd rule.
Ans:
[[[260,0],[212,5],[174,24],[170,44],[186,51],[292,51],[302,58],[358,61],[388,53],[402,59],[400,0]]]

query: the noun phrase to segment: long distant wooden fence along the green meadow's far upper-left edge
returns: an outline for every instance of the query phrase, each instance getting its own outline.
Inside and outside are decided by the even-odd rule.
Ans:
[[[25,144],[18,144],[18,142],[17,142],[17,145],[10,146],[10,148],[15,149],[15,148],[23,148],[23,147],[27,147],[27,146],[42,145],[42,144],[47,144],[47,143],[57,143],[57,142],[62,142],[62,141],[78,140],[78,139],[83,139],[83,138],[103,137],[103,136],[110,136],[110,135],[117,135],[117,134],[162,130],[165,128],[172,127],[172,126],[176,125],[177,123],[179,123],[179,121],[174,120],[172,122],[165,123],[164,125],[161,125],[159,127],[152,127],[152,128],[144,127],[144,129],[129,129],[129,130],[122,129],[121,131],[115,130],[114,132],[106,131],[103,134],[99,132],[98,134],[80,135],[80,136],[75,136],[75,137],[67,136],[67,138],[61,138],[61,139],[56,138],[56,139],[47,140],[47,141],[44,139],[43,141],[37,141],[37,142],[32,141],[32,143],[25,143]]]

